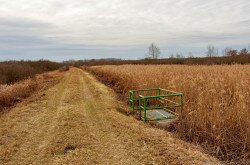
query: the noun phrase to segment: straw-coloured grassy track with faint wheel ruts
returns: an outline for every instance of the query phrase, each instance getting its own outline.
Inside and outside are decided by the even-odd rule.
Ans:
[[[72,68],[41,99],[0,117],[0,164],[219,164],[118,106],[109,88]]]

